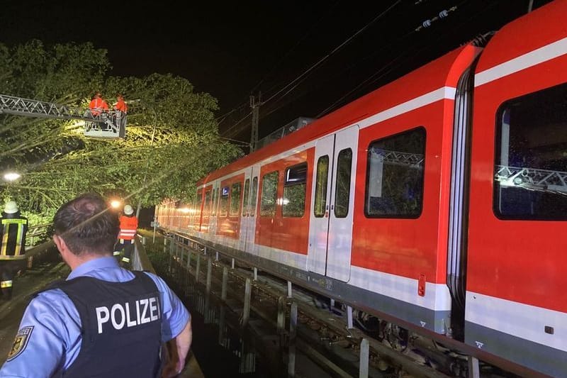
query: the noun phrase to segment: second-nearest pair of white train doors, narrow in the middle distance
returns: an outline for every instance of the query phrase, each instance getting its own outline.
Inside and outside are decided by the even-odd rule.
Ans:
[[[252,252],[256,226],[256,192],[258,190],[258,167],[249,167],[245,172],[242,213],[240,217],[240,250]],[[255,182],[255,186],[254,186]],[[254,194],[252,194],[254,192]]]

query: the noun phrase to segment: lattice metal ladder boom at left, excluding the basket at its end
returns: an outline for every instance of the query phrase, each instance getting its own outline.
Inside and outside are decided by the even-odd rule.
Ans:
[[[16,116],[33,116],[57,119],[78,119],[81,121],[103,122],[96,120],[90,112],[84,109],[70,108],[65,105],[50,102],[0,94],[0,113],[14,114]]]

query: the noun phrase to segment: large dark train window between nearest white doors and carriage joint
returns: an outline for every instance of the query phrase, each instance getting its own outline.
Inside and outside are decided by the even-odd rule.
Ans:
[[[423,206],[425,128],[371,142],[364,213],[369,218],[417,218]]]

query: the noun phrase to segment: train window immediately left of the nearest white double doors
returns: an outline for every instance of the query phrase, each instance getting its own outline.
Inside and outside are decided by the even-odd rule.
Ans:
[[[286,169],[283,182],[282,215],[301,218],[305,213],[305,187],[307,182],[307,162]]]

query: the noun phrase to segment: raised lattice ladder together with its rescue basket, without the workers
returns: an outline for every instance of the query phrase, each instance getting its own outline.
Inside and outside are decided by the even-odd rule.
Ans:
[[[77,119],[84,121],[84,135],[93,138],[124,138],[125,118],[120,111],[101,113],[93,116],[87,109],[72,108],[50,102],[0,94],[0,114],[13,114],[16,116]]]

